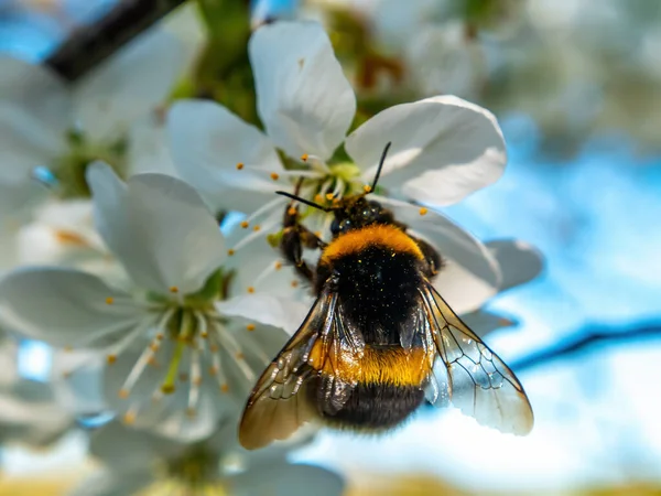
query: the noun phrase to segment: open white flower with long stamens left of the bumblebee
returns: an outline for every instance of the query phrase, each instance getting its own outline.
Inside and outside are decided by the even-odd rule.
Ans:
[[[23,268],[0,283],[1,315],[25,336],[95,349],[106,401],[126,421],[207,435],[284,343],[278,327],[293,331],[304,309],[271,311],[267,295],[220,301],[224,239],[182,181],[150,173],[124,184],[101,163],[87,180],[97,229],[132,290],[78,270]]]

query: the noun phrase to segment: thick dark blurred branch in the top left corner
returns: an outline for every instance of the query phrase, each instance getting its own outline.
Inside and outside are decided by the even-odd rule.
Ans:
[[[107,15],[74,31],[45,64],[75,80],[185,0],[123,0]]]

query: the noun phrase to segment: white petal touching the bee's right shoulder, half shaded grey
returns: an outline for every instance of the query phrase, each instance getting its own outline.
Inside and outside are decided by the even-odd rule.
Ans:
[[[389,203],[395,218],[410,226],[411,234],[429,241],[445,260],[432,282],[456,313],[476,310],[498,292],[498,262],[480,241],[434,211],[420,215],[420,207],[414,205]]]

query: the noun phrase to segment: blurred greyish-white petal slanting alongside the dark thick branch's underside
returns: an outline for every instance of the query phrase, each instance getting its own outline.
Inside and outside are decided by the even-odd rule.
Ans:
[[[117,138],[163,103],[185,63],[181,42],[161,30],[130,43],[78,82],[76,117],[93,139]]]

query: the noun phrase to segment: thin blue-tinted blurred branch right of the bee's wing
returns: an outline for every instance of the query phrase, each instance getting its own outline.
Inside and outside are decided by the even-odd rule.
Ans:
[[[509,366],[512,370],[519,373],[546,365],[556,359],[572,357],[592,347],[600,349],[599,345],[614,345],[659,337],[661,337],[661,322],[659,321],[619,327],[595,325],[586,327],[579,336],[568,338],[546,349],[540,349],[518,360],[510,362]]]

